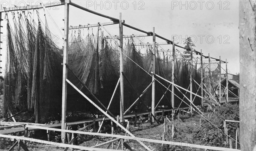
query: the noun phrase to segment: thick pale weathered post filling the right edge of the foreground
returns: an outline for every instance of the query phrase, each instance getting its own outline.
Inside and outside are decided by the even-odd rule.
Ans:
[[[239,1],[240,39],[240,139],[242,151],[255,149],[256,141],[256,6]]]

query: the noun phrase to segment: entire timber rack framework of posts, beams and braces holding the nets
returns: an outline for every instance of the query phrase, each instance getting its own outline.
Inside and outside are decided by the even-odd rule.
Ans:
[[[3,12],[12,12],[12,11],[17,11],[17,10],[29,10],[29,9],[41,9],[41,8],[47,8],[47,7],[53,7],[53,6],[61,6],[64,5],[64,50],[63,50],[63,79],[62,79],[62,112],[61,112],[61,124],[53,124],[53,125],[43,125],[43,124],[37,124],[37,123],[19,123],[19,122],[0,122],[0,125],[8,125],[5,127],[0,127],[0,128],[12,128],[12,127],[19,127],[19,128],[12,128],[12,129],[6,129],[6,130],[0,130],[0,137],[3,138],[11,138],[11,139],[16,139],[17,142],[15,142],[15,144],[12,146],[11,149],[13,149],[15,147],[15,145],[18,145],[20,147],[22,147],[24,150],[28,150],[28,148],[26,148],[26,146],[24,145],[23,141],[32,141],[32,142],[41,142],[44,144],[48,144],[48,145],[58,145],[58,147],[63,147],[65,148],[65,151],[68,148],[76,148],[76,149],[80,149],[80,150],[88,150],[88,151],[93,151],[93,150],[102,150],[102,151],[106,151],[106,150],[110,150],[107,148],[99,148],[101,145],[96,145],[94,147],[84,147],[84,146],[78,146],[78,145],[72,145],[73,144],[73,140],[75,139],[74,137],[72,137],[71,140],[69,140],[68,144],[65,143],[55,143],[55,142],[49,142],[46,140],[39,140],[39,139],[32,139],[27,137],[28,135],[28,131],[35,131],[35,130],[47,130],[47,132],[49,131],[59,131],[61,132],[61,139],[64,142],[64,140],[66,139],[65,136],[66,134],[85,134],[85,135],[93,135],[93,136],[104,136],[104,137],[112,137],[112,138],[116,138],[111,140],[110,142],[106,142],[106,143],[110,143],[116,140],[122,140],[121,144],[122,144],[122,148],[123,145],[127,147],[127,143],[125,143],[125,139],[133,139],[136,140],[137,142],[139,142],[146,150],[151,151],[151,149],[146,146],[144,144],[144,142],[154,142],[154,143],[160,143],[160,144],[168,144],[168,145],[178,145],[178,146],[186,146],[186,147],[192,147],[192,148],[202,148],[202,149],[209,149],[209,150],[218,150],[218,151],[237,151],[237,149],[230,149],[230,148],[221,148],[221,147],[212,147],[212,146],[204,146],[204,145],[195,145],[195,144],[187,144],[187,143],[183,143],[183,142],[172,142],[172,141],[165,141],[165,140],[156,140],[156,139],[145,139],[145,138],[139,138],[134,136],[130,131],[128,131],[128,128],[124,127],[124,123],[128,123],[127,119],[130,119],[132,117],[135,117],[135,119],[137,118],[137,116],[141,116],[141,115],[148,115],[149,119],[151,120],[151,122],[154,122],[157,120],[155,119],[155,116],[157,115],[157,113],[164,113],[164,112],[169,112],[172,113],[172,119],[174,119],[174,113],[177,113],[179,110],[183,111],[183,112],[187,112],[185,110],[196,110],[198,113],[200,113],[202,116],[204,116],[204,113],[202,113],[199,110],[200,106],[196,106],[193,104],[193,97],[194,96],[198,96],[199,98],[201,98],[201,106],[203,107],[205,104],[204,102],[209,102],[212,103],[214,105],[220,105],[221,104],[221,92],[219,92],[219,97],[216,97],[214,95],[211,94],[211,90],[212,88],[209,87],[207,88],[204,84],[204,75],[203,75],[203,57],[204,58],[208,58],[209,59],[209,66],[211,64],[211,59],[218,61],[218,64],[221,65],[221,63],[225,63],[227,64],[227,60],[226,61],[221,61],[221,58],[212,58],[209,55],[203,55],[202,50],[201,52],[196,51],[195,49],[189,48],[190,53],[190,62],[189,64],[192,66],[193,64],[193,53],[197,54],[197,55],[201,55],[201,83],[198,84],[195,79],[193,79],[192,76],[190,76],[190,87],[188,89],[180,87],[177,83],[175,83],[175,75],[174,75],[174,71],[172,72],[172,81],[168,81],[165,78],[157,75],[155,73],[155,60],[156,57],[159,55],[158,52],[156,52],[156,45],[163,45],[163,44],[167,44],[167,45],[172,45],[172,65],[174,66],[175,62],[174,62],[174,58],[175,58],[175,53],[179,52],[176,47],[181,48],[181,49],[186,49],[183,46],[179,46],[178,44],[175,44],[174,38],[172,38],[172,40],[169,40],[167,38],[164,38],[160,35],[158,35],[157,33],[155,33],[155,28],[153,27],[152,32],[146,32],[142,29],[138,29],[134,26],[128,25],[127,23],[125,23],[125,20],[122,20],[122,15],[121,13],[119,14],[119,18],[114,18],[114,17],[110,17],[107,15],[103,15],[100,14],[98,12],[94,12],[90,9],[86,9],[83,6],[79,6],[76,3],[71,2],[71,0],[61,0],[58,3],[48,3],[48,4],[40,4],[40,5],[35,5],[35,6],[23,6],[23,7],[11,7],[11,8],[3,8],[0,10],[0,17],[2,17],[2,13]],[[70,11],[70,6],[74,6],[78,9],[84,10],[86,12],[90,12],[94,15],[98,15],[101,17],[105,17],[110,19],[110,22],[107,23],[96,23],[96,24],[90,24],[90,25],[79,25],[79,26],[69,26],[69,11]],[[0,18],[0,20],[2,20],[2,18]],[[110,32],[108,32],[107,29],[105,29],[105,26],[109,26],[109,25],[114,25],[114,24],[119,24],[119,36],[118,40],[119,43],[117,43],[116,41],[116,37],[113,37],[111,35]],[[0,22],[1,25],[1,22]],[[68,66],[68,43],[69,43],[69,38],[68,38],[68,33],[70,29],[81,29],[81,28],[89,28],[89,27],[96,27],[96,26],[101,26],[103,29],[105,29],[106,32],[108,32],[108,34],[110,35],[110,38],[113,39],[119,46],[119,64],[120,64],[120,69],[119,69],[119,80],[118,83],[116,84],[116,89],[114,90],[114,93],[117,90],[118,85],[120,86],[120,115],[116,117],[113,117],[110,112],[108,111],[108,108],[100,108],[98,105],[96,105],[88,96],[86,96],[84,93],[82,93],[79,88],[77,88],[72,82],[70,82],[67,79],[67,73],[68,71],[72,72],[72,70],[70,70],[69,66]],[[123,35],[123,26],[126,26],[128,28],[137,30],[139,32],[142,32],[143,34],[141,35],[130,35],[130,36],[125,36]],[[2,27],[2,26],[1,26]],[[151,77],[152,77],[152,82],[151,84],[148,85],[147,89],[149,89],[149,87],[151,87],[152,89],[152,101],[151,101],[151,111],[149,112],[145,112],[145,113],[136,113],[136,114],[129,114],[129,115],[125,115],[127,113],[128,110],[124,110],[124,78],[125,76],[123,75],[123,38],[124,37],[145,37],[145,36],[152,36],[152,44],[145,44],[145,45],[152,45],[153,46],[153,54],[154,54],[154,61],[153,61],[153,68],[151,73],[148,73]],[[156,38],[162,39],[164,41],[166,41],[165,43],[157,43],[156,42]],[[167,51],[167,50],[166,50]],[[181,54],[181,53],[180,53]],[[182,55],[182,54],[181,54]],[[182,55],[182,57],[184,57]],[[186,59],[187,60],[187,59]],[[227,67],[227,65],[226,65]],[[174,69],[174,68],[172,68]],[[210,70],[210,67],[209,67]],[[226,68],[226,72],[227,72],[227,68]],[[209,73],[211,73],[209,71]],[[221,72],[220,72],[221,73]],[[156,110],[157,105],[155,105],[155,83],[159,82],[157,81],[157,78],[161,78],[162,80],[168,82],[170,85],[172,85],[171,89],[169,89],[169,87],[166,87],[166,91],[170,91],[172,93],[172,109],[168,109],[168,110]],[[210,77],[210,74],[209,74]],[[227,77],[227,76],[226,76]],[[220,75],[221,78],[221,75]],[[220,80],[221,81],[221,80]],[[97,107],[97,109],[99,109],[105,116],[103,118],[96,118],[96,119],[87,119],[84,121],[79,121],[79,122],[70,122],[67,123],[66,122],[66,109],[67,109],[67,84],[70,84],[75,90],[77,90],[85,99],[88,100],[88,102],[90,102],[92,105],[94,105],[95,107]],[[192,91],[192,84],[197,84],[200,89],[201,89],[201,94],[197,94],[197,93],[193,93]],[[219,84],[219,87],[221,87],[221,84]],[[174,93],[174,89],[179,90],[179,92],[185,91],[186,93],[190,93],[190,98],[187,98],[185,95],[184,98],[186,98],[190,104],[189,107],[174,107],[174,102],[175,102],[175,93]],[[219,89],[220,91],[222,90],[221,88]],[[228,93],[228,89],[225,89],[226,92]],[[146,91],[146,90],[145,90]],[[113,95],[114,95],[113,93]],[[144,91],[143,91],[144,93]],[[143,95],[143,93],[141,95]],[[204,94],[207,96],[204,97]],[[163,94],[164,95],[164,94]],[[138,99],[140,99],[140,95],[138,94]],[[96,98],[95,98],[96,99]],[[98,99],[96,99],[98,100]],[[99,101],[99,100],[98,100]],[[183,102],[183,99],[181,99],[181,101]],[[226,101],[228,102],[228,98],[226,99]],[[100,102],[100,101],[99,101]],[[186,102],[185,102],[186,103]],[[111,102],[110,102],[111,104]],[[109,104],[109,105],[110,105]],[[132,105],[131,105],[132,106]],[[116,126],[118,126],[119,128],[121,128],[123,131],[126,132],[126,136],[123,135],[115,135],[115,134],[104,134],[104,133],[99,133],[102,127],[102,123],[104,120],[111,120],[111,122],[114,122],[116,124]],[[169,120],[168,118],[166,120]],[[84,131],[73,131],[73,130],[69,130],[67,127],[72,126],[72,125],[82,125],[84,124],[84,128],[88,128],[90,126],[95,127],[96,122],[100,122],[99,124],[99,131],[98,133],[96,132],[84,132]],[[61,129],[58,129],[59,127],[61,127]],[[174,127],[173,127],[174,128]],[[13,133],[17,133],[17,132],[22,132],[24,131],[24,136],[11,136],[11,135],[7,135],[7,134],[13,134]]]

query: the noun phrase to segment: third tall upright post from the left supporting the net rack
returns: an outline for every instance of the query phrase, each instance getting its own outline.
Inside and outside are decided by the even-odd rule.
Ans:
[[[153,61],[152,61],[152,81],[154,81],[154,73],[156,72],[156,35],[155,29],[153,27]],[[151,113],[154,116],[154,107],[155,107],[155,82],[152,84],[152,102],[151,102]],[[154,122],[154,118],[152,118]]]

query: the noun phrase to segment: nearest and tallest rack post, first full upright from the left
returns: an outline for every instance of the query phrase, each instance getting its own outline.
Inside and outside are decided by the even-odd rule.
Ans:
[[[68,63],[68,27],[69,27],[69,0],[65,0],[64,7],[64,50],[63,50],[63,75],[62,75],[62,111],[61,111],[61,129],[65,129],[66,111],[67,111],[67,67]],[[64,142],[64,132],[61,132],[61,139]]]

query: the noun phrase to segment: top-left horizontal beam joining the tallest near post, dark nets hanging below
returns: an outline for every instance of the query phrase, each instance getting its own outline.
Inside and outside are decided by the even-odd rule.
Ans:
[[[48,2],[44,4],[44,7],[54,7],[54,6],[61,6],[64,5],[64,1],[54,1],[54,2]],[[43,6],[41,4],[39,5],[32,5],[32,6],[16,6],[16,7],[9,7],[4,8],[1,6],[0,12],[10,12],[10,11],[19,11],[19,10],[30,10],[30,9],[42,9]]]

